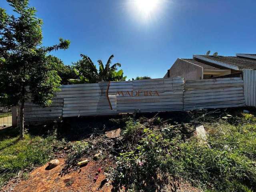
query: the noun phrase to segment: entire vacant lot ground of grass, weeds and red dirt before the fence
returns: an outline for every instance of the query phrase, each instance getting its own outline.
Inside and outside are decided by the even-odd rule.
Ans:
[[[24,140],[17,128],[6,128],[0,130],[1,191],[252,192],[256,111],[249,110],[74,118],[57,128],[28,127]],[[207,143],[198,142],[198,125]],[[52,159],[60,164],[46,170]]]

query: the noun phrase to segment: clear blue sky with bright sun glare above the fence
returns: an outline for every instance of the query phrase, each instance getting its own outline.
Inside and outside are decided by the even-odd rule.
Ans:
[[[114,54],[128,78],[162,78],[177,58],[208,50],[219,55],[256,53],[256,0],[30,0],[44,21],[43,44],[62,37],[68,50],[52,52],[71,64],[88,55],[106,63]],[[5,0],[0,7],[12,9]]]

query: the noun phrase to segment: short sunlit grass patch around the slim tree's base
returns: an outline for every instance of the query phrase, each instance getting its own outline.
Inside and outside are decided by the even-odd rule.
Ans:
[[[0,136],[0,186],[20,171],[30,171],[48,162],[54,156],[54,146],[60,144],[55,134],[45,137],[25,134],[24,140],[19,140],[18,130],[4,131]]]

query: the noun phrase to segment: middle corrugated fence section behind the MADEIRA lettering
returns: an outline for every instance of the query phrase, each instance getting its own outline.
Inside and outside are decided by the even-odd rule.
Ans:
[[[183,110],[184,78],[134,80],[132,90],[117,94],[118,113]]]

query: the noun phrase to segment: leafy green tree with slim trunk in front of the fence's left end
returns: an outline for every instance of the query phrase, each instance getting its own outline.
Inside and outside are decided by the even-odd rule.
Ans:
[[[42,20],[36,18],[28,0],[7,0],[14,15],[0,8],[0,99],[9,105],[20,104],[20,138],[24,137],[24,103],[42,106],[52,102],[60,77],[48,52],[67,49],[70,42],[60,38],[54,46],[42,46]]]

